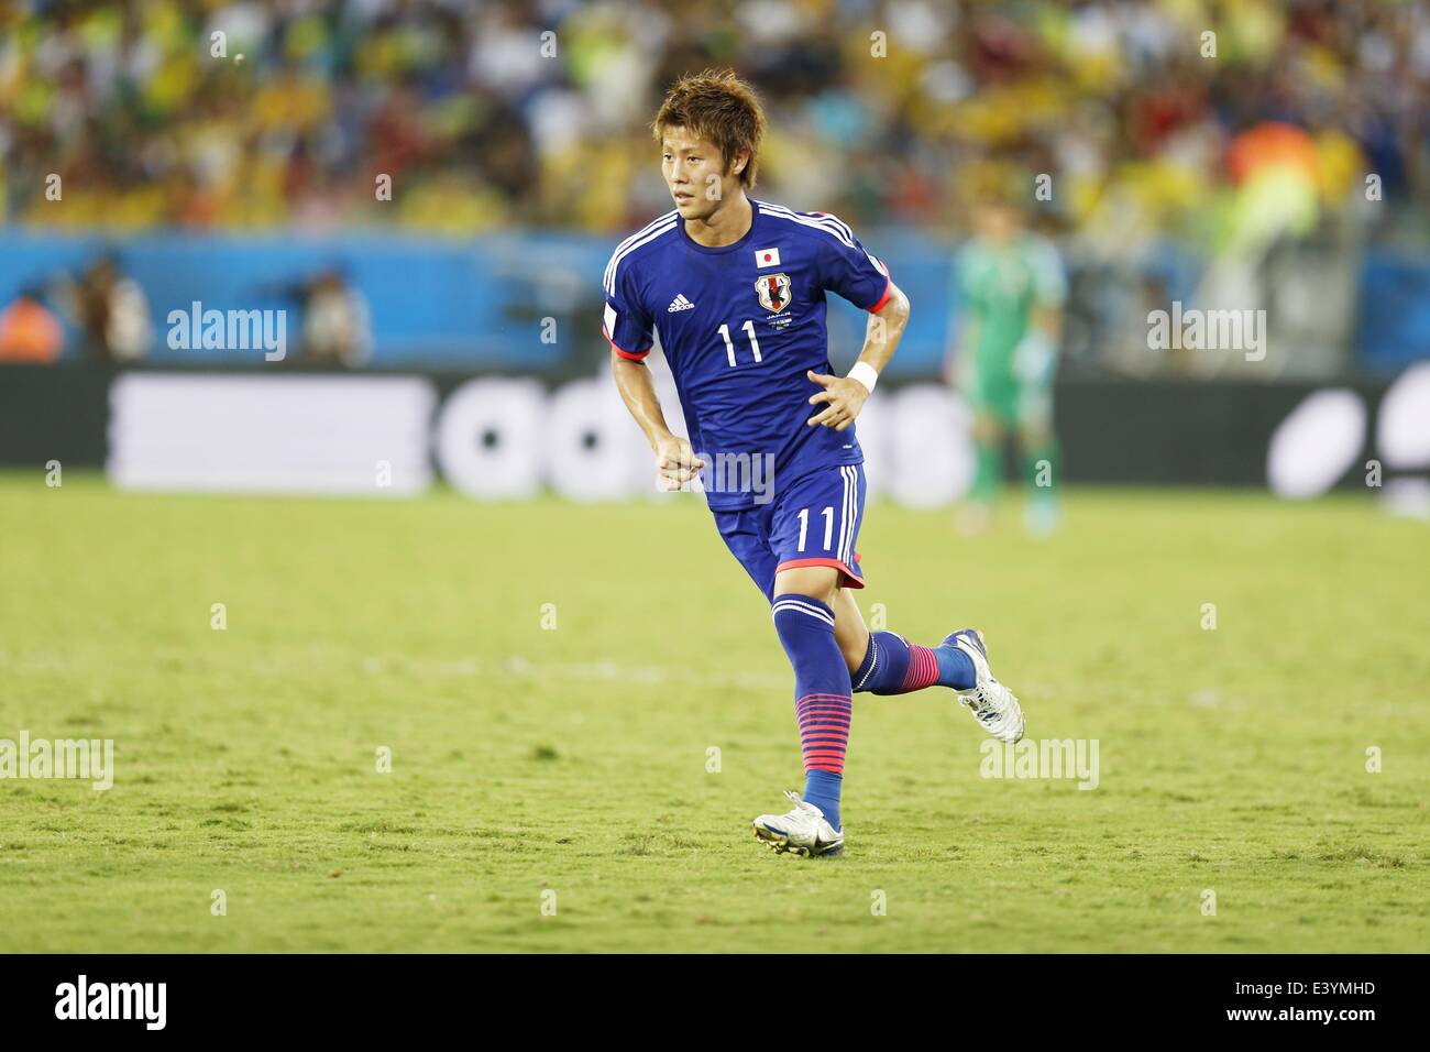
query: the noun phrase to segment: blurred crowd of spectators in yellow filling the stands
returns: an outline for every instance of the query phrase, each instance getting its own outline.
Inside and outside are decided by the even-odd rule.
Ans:
[[[1427,0],[0,11],[0,216],[46,228],[619,232],[669,205],[664,86],[715,64],[765,99],[758,193],[857,223],[957,235],[980,192],[1047,173],[1051,226],[1224,248],[1268,200],[1277,229],[1376,200],[1369,173],[1386,202],[1430,195]],[[1294,177],[1238,196],[1267,166]]]

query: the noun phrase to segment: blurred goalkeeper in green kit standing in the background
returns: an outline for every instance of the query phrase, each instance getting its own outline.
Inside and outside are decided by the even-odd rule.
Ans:
[[[974,209],[954,285],[962,322],[947,374],[972,409],[978,449],[962,525],[971,532],[987,528],[1011,432],[1031,487],[1027,527],[1051,532],[1058,521],[1052,379],[1067,299],[1062,260],[1048,239],[1027,229],[1020,203],[990,195]]]

